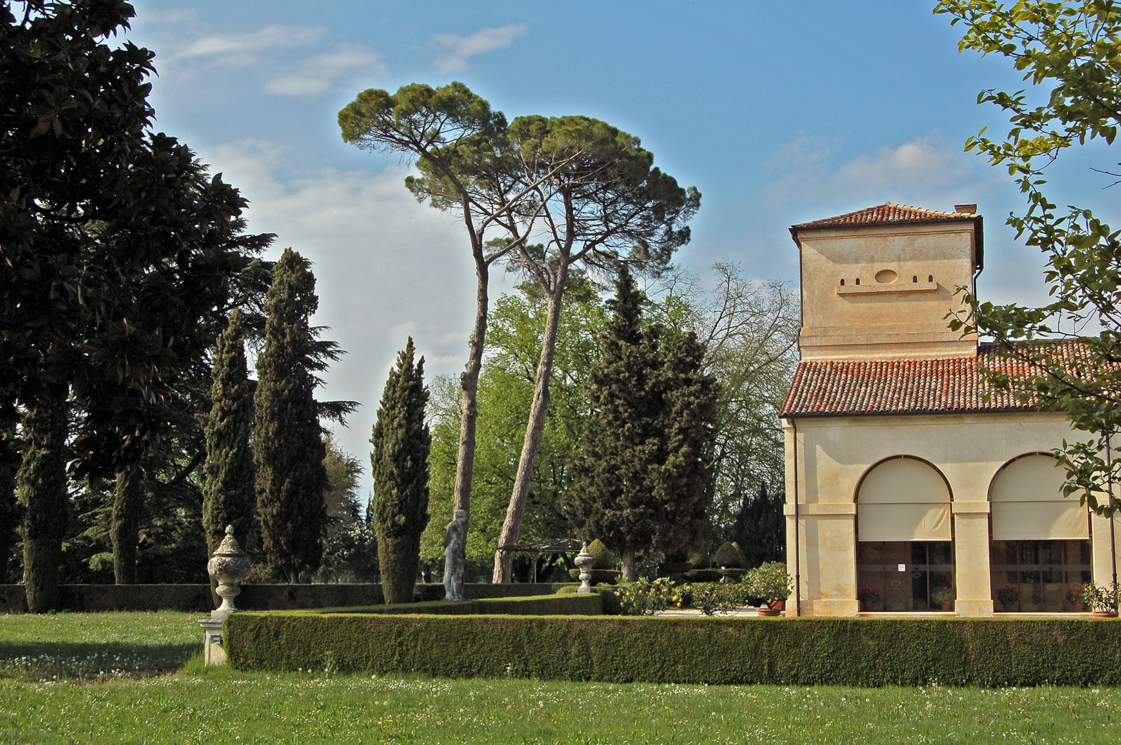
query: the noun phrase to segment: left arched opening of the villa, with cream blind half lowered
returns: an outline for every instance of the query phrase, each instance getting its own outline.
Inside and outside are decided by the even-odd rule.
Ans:
[[[945,477],[919,458],[896,456],[864,474],[856,487],[861,609],[953,608],[949,499]]]

